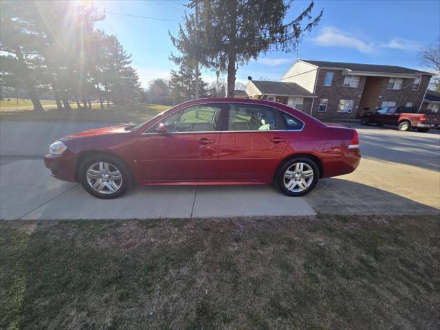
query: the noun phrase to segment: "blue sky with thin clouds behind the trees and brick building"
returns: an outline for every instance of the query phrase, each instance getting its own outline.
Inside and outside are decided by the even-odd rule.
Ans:
[[[95,1],[100,10],[180,21],[187,1]],[[309,1],[295,1],[286,21],[294,19]],[[419,50],[440,37],[440,1],[315,1],[315,12],[324,9],[319,25],[307,34],[298,48],[302,59],[400,65],[426,69]],[[107,13],[98,23],[107,34],[115,34],[133,56],[144,87],[154,78],[167,78],[175,65],[176,52],[168,30],[177,34],[177,22],[125,17]],[[280,80],[296,61],[295,53],[262,54],[258,61],[239,67],[237,80],[267,78]],[[214,72],[203,70],[206,81]]]

